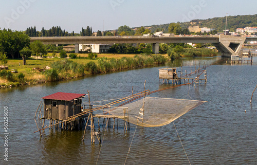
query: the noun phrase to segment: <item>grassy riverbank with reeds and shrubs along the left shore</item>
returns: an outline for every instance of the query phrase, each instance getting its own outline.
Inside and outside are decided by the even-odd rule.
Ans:
[[[69,60],[60,58],[28,59],[27,65],[22,65],[22,60],[8,59],[9,70],[0,72],[0,87],[60,81],[89,74],[154,66],[167,61],[167,58],[162,55],[145,54],[136,56],[135,54],[98,54],[96,60],[89,60],[87,54],[78,54],[78,57],[80,58]],[[46,66],[51,69],[45,69]],[[40,68],[44,71],[40,72],[33,68]],[[18,73],[12,74],[11,69],[16,69]]]

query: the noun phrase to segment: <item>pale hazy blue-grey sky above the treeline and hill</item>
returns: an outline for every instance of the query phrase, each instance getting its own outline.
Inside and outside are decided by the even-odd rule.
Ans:
[[[256,0],[0,0],[0,28],[26,30],[61,26],[79,33],[151,26],[228,15],[257,14]]]

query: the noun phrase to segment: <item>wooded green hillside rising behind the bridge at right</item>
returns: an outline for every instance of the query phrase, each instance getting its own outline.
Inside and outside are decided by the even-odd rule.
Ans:
[[[188,28],[189,26],[199,26],[200,28],[208,27],[214,28],[218,32],[222,32],[225,30],[226,26],[226,16],[225,17],[214,17],[213,19],[208,20],[192,20],[191,22],[180,23],[182,29]],[[236,16],[228,16],[227,17],[227,29],[230,31],[235,31],[236,28],[244,28],[244,27],[257,27],[257,14],[255,15],[236,15]],[[150,27],[152,32],[155,32],[156,29],[160,28],[160,25],[152,25],[152,26],[144,26]],[[168,32],[169,24],[161,25],[161,29],[164,32]]]

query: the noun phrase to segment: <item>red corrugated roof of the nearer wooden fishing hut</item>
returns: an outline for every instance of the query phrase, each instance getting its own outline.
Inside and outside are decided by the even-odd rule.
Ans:
[[[42,97],[41,99],[70,101],[82,96],[85,96],[85,94],[72,94],[72,93],[58,92],[49,96]]]

